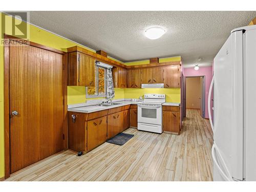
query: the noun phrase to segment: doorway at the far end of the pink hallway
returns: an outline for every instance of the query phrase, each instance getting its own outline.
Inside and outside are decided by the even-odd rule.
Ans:
[[[200,110],[200,116],[205,118],[204,76],[185,77],[185,86],[183,89],[185,92],[185,109]]]

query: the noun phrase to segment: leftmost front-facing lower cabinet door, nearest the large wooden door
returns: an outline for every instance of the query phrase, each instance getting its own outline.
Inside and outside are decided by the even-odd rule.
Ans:
[[[87,122],[87,151],[98,146],[98,119]]]

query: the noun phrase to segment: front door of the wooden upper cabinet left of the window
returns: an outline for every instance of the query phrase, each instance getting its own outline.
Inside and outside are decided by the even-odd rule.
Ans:
[[[79,86],[95,86],[95,59],[79,53]]]

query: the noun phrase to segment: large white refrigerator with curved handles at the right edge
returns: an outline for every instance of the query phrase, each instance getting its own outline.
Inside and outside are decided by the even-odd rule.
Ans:
[[[214,181],[256,181],[256,26],[231,31],[214,58]]]

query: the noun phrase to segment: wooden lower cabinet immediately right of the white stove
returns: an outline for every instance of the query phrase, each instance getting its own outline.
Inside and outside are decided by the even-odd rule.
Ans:
[[[177,109],[176,109],[177,108]],[[179,106],[168,106],[163,110],[174,110],[174,111],[163,111],[163,131],[165,133],[180,134],[180,107]]]

